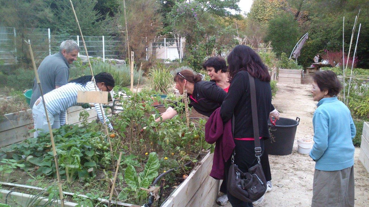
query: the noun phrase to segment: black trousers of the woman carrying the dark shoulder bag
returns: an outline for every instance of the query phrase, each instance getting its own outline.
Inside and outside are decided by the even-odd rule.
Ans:
[[[255,157],[255,144],[254,141],[245,141],[245,140],[234,140],[236,145],[235,147],[235,156],[234,163],[238,166],[238,168],[242,172],[247,172],[251,166],[254,166],[258,160]],[[260,145],[262,149],[262,153],[264,152],[264,140],[260,140]],[[228,178],[228,170],[231,166],[231,158],[225,163],[225,178]],[[224,182],[225,180],[223,180]],[[226,183],[226,182],[225,182]],[[252,207],[252,203],[248,203],[238,198],[232,196],[232,194],[227,190],[228,200],[230,201],[232,207]]]

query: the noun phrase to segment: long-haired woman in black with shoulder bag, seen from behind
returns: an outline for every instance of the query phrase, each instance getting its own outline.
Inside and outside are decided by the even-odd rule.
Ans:
[[[223,122],[235,117],[234,141],[235,164],[242,172],[257,163],[255,157],[254,130],[252,127],[250,83],[248,73],[255,79],[256,105],[258,110],[259,134],[262,152],[264,151],[263,138],[269,138],[268,118],[272,102],[270,75],[268,68],[263,64],[259,55],[245,45],[236,46],[228,55],[228,69],[230,88],[224,99],[220,114]],[[230,160],[226,164],[226,172],[230,167]],[[228,199],[233,207],[253,206],[232,196],[227,192]]]

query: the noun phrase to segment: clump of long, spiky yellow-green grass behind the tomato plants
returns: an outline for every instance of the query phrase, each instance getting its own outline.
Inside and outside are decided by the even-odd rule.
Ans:
[[[164,94],[169,92],[173,85],[173,76],[170,74],[170,67],[158,63],[156,67],[151,67],[148,72],[150,86],[154,91],[160,91]]]

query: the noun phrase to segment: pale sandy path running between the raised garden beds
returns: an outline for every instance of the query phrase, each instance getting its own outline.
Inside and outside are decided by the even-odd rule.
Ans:
[[[313,137],[313,113],[316,103],[311,96],[310,84],[277,84],[278,92],[272,100],[281,117],[296,119],[296,140]],[[362,131],[358,131],[362,133]],[[360,148],[355,149],[355,206],[369,207],[369,173],[359,161]],[[273,190],[265,194],[261,207],[310,207],[313,196],[314,162],[309,155],[297,152],[295,141],[292,154],[286,156],[269,155],[272,171]],[[218,207],[214,202],[213,207]],[[225,207],[231,207],[228,202]]]

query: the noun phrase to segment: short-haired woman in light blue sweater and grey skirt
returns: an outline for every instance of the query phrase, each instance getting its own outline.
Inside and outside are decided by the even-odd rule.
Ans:
[[[311,90],[314,112],[315,161],[311,207],[354,206],[354,152],[356,129],[347,106],[337,99],[342,86],[331,71],[314,74]]]

